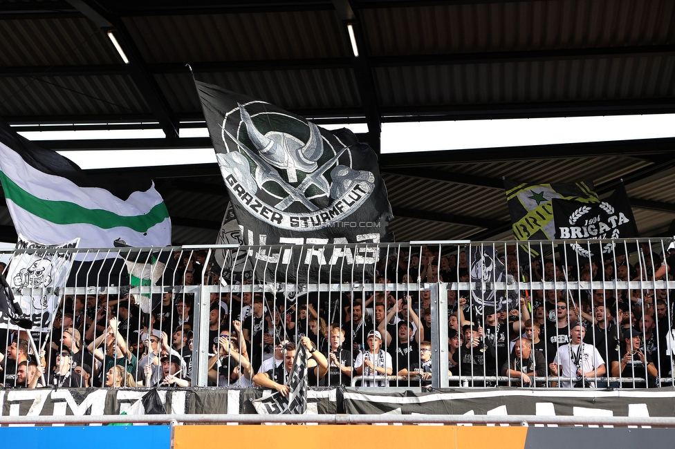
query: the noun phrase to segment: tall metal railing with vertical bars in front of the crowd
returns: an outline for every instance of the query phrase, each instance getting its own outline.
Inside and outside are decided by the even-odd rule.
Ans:
[[[257,372],[280,373],[275,379],[283,383],[285,343],[308,336],[330,365],[315,385],[388,375],[371,384],[573,386],[580,378],[571,365],[583,367],[584,360],[593,368],[584,369],[586,379],[596,388],[672,385],[675,282],[654,280],[654,274],[670,276],[660,266],[668,265],[661,258],[669,256],[671,243],[21,249],[4,273],[36,326],[30,336],[0,332],[3,375],[6,385],[17,374],[22,379],[26,356],[27,375],[33,375],[30,359],[39,354],[22,343],[33,340],[37,352],[45,350],[46,375],[39,383],[47,385],[68,386],[77,378],[89,386],[246,387]],[[46,283],[45,276],[57,278],[47,262],[64,257],[72,258],[69,276]],[[10,254],[0,255],[9,259]],[[573,321],[586,329],[581,350],[573,341]],[[633,327],[640,341],[629,347],[623,336]],[[373,347],[375,335],[386,351]],[[530,356],[524,355],[527,346]],[[567,350],[556,359],[561,347]],[[596,350],[604,372],[593,364]],[[545,366],[531,355],[535,352],[542,353]],[[56,370],[57,357],[68,357],[70,365]],[[535,374],[523,384],[530,357]],[[118,385],[115,376],[123,373],[113,372],[109,382],[115,365],[131,380]],[[263,365],[266,371],[260,371]],[[71,380],[59,385],[66,372]]]

